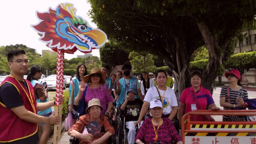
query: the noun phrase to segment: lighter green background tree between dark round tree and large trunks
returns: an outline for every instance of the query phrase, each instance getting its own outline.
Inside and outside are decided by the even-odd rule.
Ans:
[[[156,71],[156,66],[154,65],[153,55],[148,52],[138,53],[131,52],[129,54],[129,59],[131,59],[133,74],[140,75],[142,72],[154,72]]]

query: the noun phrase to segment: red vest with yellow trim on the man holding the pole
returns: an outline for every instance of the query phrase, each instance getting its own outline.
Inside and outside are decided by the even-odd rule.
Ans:
[[[1,83],[0,88],[4,83],[14,85],[20,93],[24,107],[28,111],[37,114],[34,88],[28,80],[25,79],[25,82],[28,85],[29,91],[16,78],[9,75]],[[11,97],[12,95],[8,96]],[[20,119],[14,112],[12,112],[11,109],[5,108],[5,105],[1,102],[0,111],[0,142],[12,142],[15,140],[24,139],[34,135],[37,132],[38,126],[36,123],[31,123]]]

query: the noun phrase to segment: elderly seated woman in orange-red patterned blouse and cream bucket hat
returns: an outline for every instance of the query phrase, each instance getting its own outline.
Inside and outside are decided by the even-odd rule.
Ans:
[[[89,114],[80,116],[76,124],[68,130],[68,135],[78,138],[80,144],[107,144],[108,138],[115,134],[115,131],[109,124],[108,117],[100,114],[102,109],[99,99],[90,100],[86,109]],[[100,123],[101,130],[97,136],[93,136],[87,132],[87,129],[84,129],[92,121]]]

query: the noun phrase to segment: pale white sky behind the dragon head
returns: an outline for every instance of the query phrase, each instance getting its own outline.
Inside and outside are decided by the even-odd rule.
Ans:
[[[72,3],[76,8],[76,15],[87,20],[92,28],[97,28],[95,23],[87,14],[91,5],[87,0],[4,0],[1,1],[1,22],[0,22],[0,46],[24,44],[27,47],[36,49],[37,53],[42,54],[42,50],[51,50],[45,43],[40,42],[40,37],[30,25],[37,24],[36,11],[46,12],[49,7],[53,9],[60,3]],[[76,58],[77,55],[84,55],[80,51],[74,54],[65,53],[65,59]],[[100,57],[99,49],[92,50],[93,56]]]

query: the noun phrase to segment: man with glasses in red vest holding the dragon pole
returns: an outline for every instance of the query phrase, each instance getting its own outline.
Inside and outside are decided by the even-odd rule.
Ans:
[[[36,144],[38,123],[59,124],[61,117],[37,115],[37,111],[54,106],[55,101],[36,104],[32,84],[23,79],[29,65],[25,51],[10,51],[7,59],[11,73],[0,85],[0,143]]]

